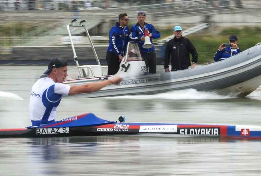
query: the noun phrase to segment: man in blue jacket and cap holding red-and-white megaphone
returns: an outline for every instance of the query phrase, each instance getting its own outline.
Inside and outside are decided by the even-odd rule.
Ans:
[[[146,13],[144,11],[138,12],[137,19],[138,23],[132,26],[129,39],[140,45],[149,73],[156,73],[157,57],[152,39],[160,38],[160,32],[152,24],[145,23]]]

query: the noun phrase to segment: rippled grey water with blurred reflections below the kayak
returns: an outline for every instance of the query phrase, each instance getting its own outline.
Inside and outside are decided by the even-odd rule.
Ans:
[[[243,161],[256,173],[261,155],[260,141],[173,134],[1,139],[0,147],[4,175],[189,175],[199,165],[231,173]]]

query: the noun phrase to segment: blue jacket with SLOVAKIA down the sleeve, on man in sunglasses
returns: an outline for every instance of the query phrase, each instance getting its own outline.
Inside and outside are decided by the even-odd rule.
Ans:
[[[128,26],[122,27],[119,22],[117,22],[110,29],[108,51],[115,53],[117,56],[124,55],[129,40],[128,34]]]

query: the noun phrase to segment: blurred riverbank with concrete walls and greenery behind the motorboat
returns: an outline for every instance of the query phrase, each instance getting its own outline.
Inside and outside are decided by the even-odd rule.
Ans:
[[[129,27],[137,23],[137,12],[146,11],[146,22],[161,32],[153,39],[158,64],[163,63],[165,45],[180,25],[199,53],[198,63],[213,62],[213,56],[230,35],[238,36],[242,51],[261,41],[261,0],[0,0],[1,64],[46,64],[54,57],[73,60],[66,26],[85,20],[102,64],[106,64],[109,30],[118,15],[127,13]],[[77,23],[77,22],[76,22]],[[90,64],[92,49],[83,30],[73,39],[82,64]],[[69,62],[74,63],[74,62]]]

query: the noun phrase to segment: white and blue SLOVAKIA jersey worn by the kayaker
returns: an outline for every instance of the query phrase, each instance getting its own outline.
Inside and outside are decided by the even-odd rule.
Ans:
[[[31,90],[29,110],[32,125],[48,124],[54,121],[56,108],[63,95],[68,95],[70,86],[55,83],[51,78],[41,78]]]

